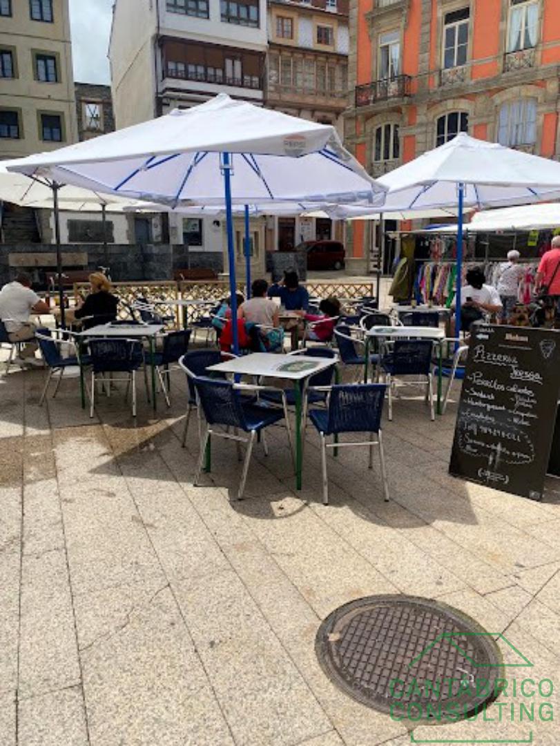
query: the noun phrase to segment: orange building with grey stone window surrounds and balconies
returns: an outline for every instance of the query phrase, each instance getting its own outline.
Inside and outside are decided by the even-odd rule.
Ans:
[[[349,63],[345,144],[373,176],[459,131],[560,156],[560,0],[350,0]]]

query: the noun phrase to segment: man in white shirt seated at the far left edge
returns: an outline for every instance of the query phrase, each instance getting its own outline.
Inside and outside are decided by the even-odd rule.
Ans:
[[[37,360],[37,342],[34,341],[37,327],[29,321],[31,313],[50,313],[48,305],[42,301],[31,289],[31,278],[25,272],[20,272],[13,282],[7,283],[0,290],[0,319],[6,327],[10,342],[26,342],[23,345],[20,357],[14,359],[18,365],[42,366],[41,360]]]

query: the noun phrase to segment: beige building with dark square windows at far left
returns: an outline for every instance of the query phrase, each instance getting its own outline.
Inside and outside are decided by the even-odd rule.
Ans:
[[[76,140],[68,0],[0,0],[0,158]]]

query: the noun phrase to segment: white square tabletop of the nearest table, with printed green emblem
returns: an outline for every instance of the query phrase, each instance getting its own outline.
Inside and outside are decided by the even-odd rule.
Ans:
[[[208,366],[209,371],[239,373],[241,375],[303,380],[336,364],[336,357],[309,357],[307,355],[277,355],[272,352],[254,352],[234,357],[224,363]]]

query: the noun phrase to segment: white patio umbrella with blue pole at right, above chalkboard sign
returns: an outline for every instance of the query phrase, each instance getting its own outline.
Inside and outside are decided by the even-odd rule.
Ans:
[[[388,189],[380,212],[456,207],[457,292],[461,307],[463,213],[466,207],[529,204],[560,197],[560,163],[461,133],[378,180]],[[396,208],[395,205],[398,205]],[[456,330],[460,331],[460,314]]]

